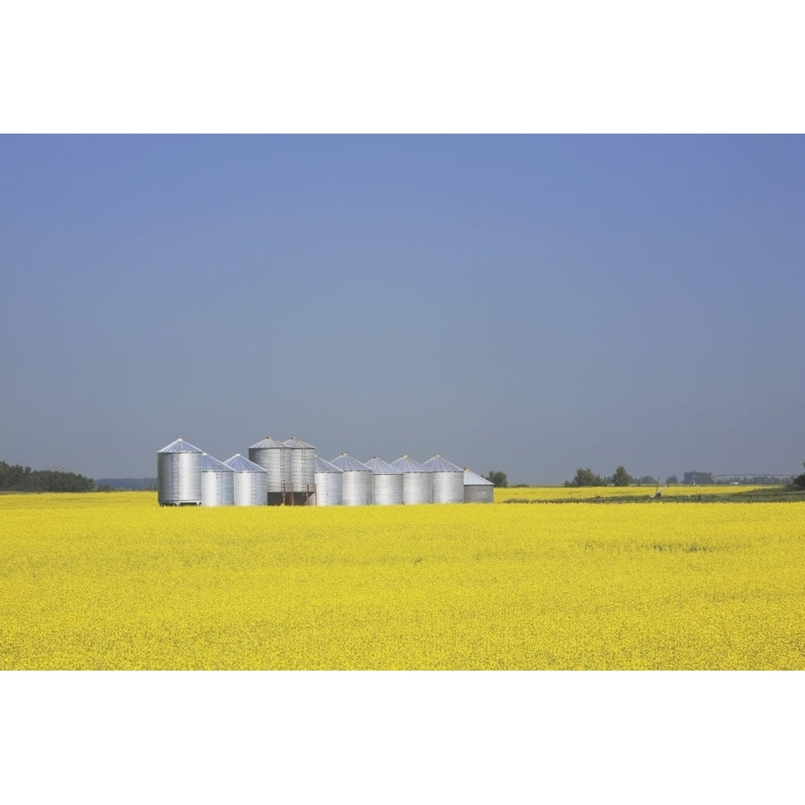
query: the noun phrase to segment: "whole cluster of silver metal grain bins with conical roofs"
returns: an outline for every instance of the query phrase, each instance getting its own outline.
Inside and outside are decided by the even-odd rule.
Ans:
[[[157,451],[160,505],[394,505],[491,503],[493,484],[435,455],[420,464],[407,455],[392,463],[359,462],[347,453],[332,462],[292,436],[272,436],[220,462],[176,439]]]

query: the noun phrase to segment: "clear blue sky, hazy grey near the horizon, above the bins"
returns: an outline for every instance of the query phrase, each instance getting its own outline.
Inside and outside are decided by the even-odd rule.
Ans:
[[[0,459],[796,472],[801,136],[0,136]]]

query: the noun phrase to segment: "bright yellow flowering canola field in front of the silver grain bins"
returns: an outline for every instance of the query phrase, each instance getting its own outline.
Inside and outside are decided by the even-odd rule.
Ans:
[[[805,669],[805,504],[0,496],[3,669]]]

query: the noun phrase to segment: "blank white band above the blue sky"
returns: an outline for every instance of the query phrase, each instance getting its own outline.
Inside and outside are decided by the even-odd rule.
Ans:
[[[9,4],[4,132],[803,130],[798,6]]]

